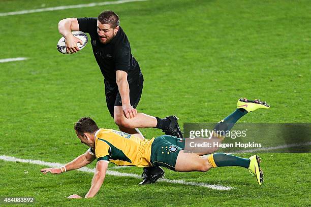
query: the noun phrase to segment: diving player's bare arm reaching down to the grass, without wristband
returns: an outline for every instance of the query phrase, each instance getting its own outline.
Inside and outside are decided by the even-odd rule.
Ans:
[[[108,168],[108,161],[99,160],[97,162],[94,177],[92,179],[92,184],[90,189],[84,196],[85,198],[94,197],[97,194],[97,192],[101,189],[106,177],[107,168]],[[77,194],[73,194],[68,196],[68,198],[82,198],[82,197]]]

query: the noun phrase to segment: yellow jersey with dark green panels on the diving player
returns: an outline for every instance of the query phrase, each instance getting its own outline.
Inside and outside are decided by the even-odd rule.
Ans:
[[[140,139],[113,129],[99,129],[95,133],[95,156],[116,165],[152,166],[151,140]]]

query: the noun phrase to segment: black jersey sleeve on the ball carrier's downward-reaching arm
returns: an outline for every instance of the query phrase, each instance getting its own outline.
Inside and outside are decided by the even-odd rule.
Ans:
[[[115,71],[127,72],[130,69],[131,49],[129,46],[117,47],[115,51]]]

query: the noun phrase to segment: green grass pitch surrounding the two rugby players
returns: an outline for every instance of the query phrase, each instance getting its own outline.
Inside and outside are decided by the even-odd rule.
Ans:
[[[2,0],[0,13],[103,2]],[[236,100],[260,98],[243,122],[310,122],[310,1],[154,0],[102,7],[0,16],[0,155],[66,163],[87,149],[73,124],[82,116],[115,128],[106,108],[103,77],[88,44],[73,55],[56,50],[60,19],[114,10],[144,74],[138,111],[184,122],[217,122]],[[150,139],[157,129],[142,129]],[[248,157],[251,154],[240,154]],[[92,175],[42,175],[44,166],[0,160],[0,196],[35,197],[35,206],[310,206],[310,156],[259,153],[265,183],[247,170],[223,167],[167,179],[233,187],[228,191],[107,176],[98,195],[84,196]],[[92,163],[89,167],[94,167]],[[113,166],[113,165],[111,165]],[[137,167],[113,169],[141,174]]]

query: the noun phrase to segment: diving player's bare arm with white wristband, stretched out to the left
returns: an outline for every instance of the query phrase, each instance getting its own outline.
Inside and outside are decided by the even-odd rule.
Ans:
[[[68,164],[62,167],[52,167],[52,168],[44,168],[41,169],[41,172],[43,174],[47,174],[50,172],[51,174],[61,174],[61,172],[69,171],[69,170],[74,170],[74,169],[79,169],[81,167],[84,167],[85,165],[91,163],[93,160],[95,160],[95,155],[90,154],[89,150],[87,150],[84,154],[80,155],[76,159],[72,160]]]

